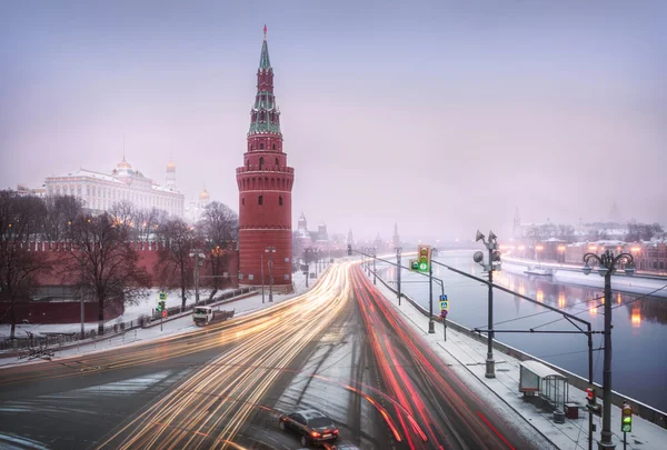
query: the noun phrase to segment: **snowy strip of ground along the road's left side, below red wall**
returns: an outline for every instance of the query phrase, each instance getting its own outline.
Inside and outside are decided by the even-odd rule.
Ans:
[[[317,280],[309,280],[309,288],[315,284]],[[250,313],[252,311],[257,311],[263,308],[270,308],[273,304],[278,304],[282,301],[291,299],[296,296],[305,293],[308,289],[306,288],[306,276],[302,273],[297,273],[293,276],[293,286],[295,292],[288,294],[273,294],[273,302],[269,303],[269,290],[267,288],[265,294],[265,301],[262,302],[261,291],[252,297],[247,297],[243,299],[228,301],[221,308],[223,309],[233,309],[235,317],[243,316]],[[156,291],[157,292],[157,291]],[[169,300],[169,297],[168,297]],[[169,304],[169,302],[167,303]],[[152,308],[152,307],[151,307]],[[127,319],[126,319],[127,320]],[[116,320],[112,320],[108,323],[115,323]],[[119,333],[112,338],[103,339],[103,340],[92,340],[92,341],[83,341],[80,344],[74,344],[73,347],[68,347],[64,350],[58,350],[56,352],[56,358],[70,358],[78,354],[91,353],[97,351],[104,351],[116,347],[133,344],[136,342],[146,342],[153,339],[160,339],[169,336],[182,334],[186,332],[197,330],[197,327],[192,323],[192,318],[190,314],[185,314],[183,317],[179,317],[178,319],[173,319],[162,323],[160,329],[159,322],[153,322],[153,326],[150,328],[140,328],[129,330],[125,333]],[[2,326],[6,327],[6,326]],[[27,330],[30,330],[30,326],[24,326]],[[31,326],[31,327],[40,327],[40,332],[76,332],[81,330],[80,323],[59,323],[59,324],[49,324],[49,326]],[[18,327],[17,327],[18,328]],[[86,323],[87,329],[96,329],[97,322],[94,323]],[[44,331],[49,330],[49,331]],[[7,329],[7,333],[9,334],[9,329]],[[24,359],[18,359],[16,357],[2,358],[0,359],[0,368],[13,366],[17,363],[26,363]]]

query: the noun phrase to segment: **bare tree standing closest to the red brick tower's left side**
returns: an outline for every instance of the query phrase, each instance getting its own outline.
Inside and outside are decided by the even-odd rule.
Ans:
[[[236,250],[239,217],[227,204],[213,201],[203,209],[198,228],[210,258],[213,290],[209,298],[213,298],[222,286],[219,277],[229,263],[230,252]]]

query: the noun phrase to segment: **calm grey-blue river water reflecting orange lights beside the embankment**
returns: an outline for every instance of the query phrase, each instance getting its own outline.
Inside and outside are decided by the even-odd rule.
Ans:
[[[440,253],[438,261],[459,270],[481,274],[471,251]],[[407,258],[404,257],[404,266]],[[385,280],[396,287],[396,268],[378,264]],[[597,276],[595,272],[590,276]],[[486,284],[434,264],[434,277],[445,281],[449,299],[448,320],[468,328],[486,328],[488,288]],[[418,273],[401,272],[402,291],[428,309],[428,279]],[[604,330],[603,289],[552,282],[550,277],[535,277],[508,271],[494,273],[494,281],[516,292],[559,308]],[[440,286],[434,282],[434,311],[439,313]],[[613,389],[646,404],[667,411],[667,299],[615,291],[611,332]],[[539,304],[494,290],[494,328],[520,329],[542,326],[540,330],[576,330],[557,312]],[[555,321],[556,320],[556,321]],[[555,321],[547,324],[547,322]],[[588,346],[584,334],[496,333],[498,341],[541,358],[558,367],[588,378]],[[594,334],[594,349],[601,349],[603,334]],[[499,358],[496,358],[498,360]],[[594,379],[603,382],[604,352],[594,352]],[[584,399],[580,399],[584,400]]]

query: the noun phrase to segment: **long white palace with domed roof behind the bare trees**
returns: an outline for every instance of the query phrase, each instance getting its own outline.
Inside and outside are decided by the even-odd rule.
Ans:
[[[183,217],[185,196],[176,190],[176,164],[167,164],[168,187],[161,187],[143,173],[132,169],[125,156],[111,174],[80,169],[62,176],[48,177],[48,196],[74,196],[83,200],[86,208],[108,211],[120,200],[129,200],[137,208],[157,208],[169,214]]]

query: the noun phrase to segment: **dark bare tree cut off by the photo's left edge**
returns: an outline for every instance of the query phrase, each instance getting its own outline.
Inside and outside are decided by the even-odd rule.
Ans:
[[[0,298],[9,301],[0,319],[9,313],[10,339],[16,337],[16,302],[30,296],[38,274],[49,271],[44,254],[29,251],[44,211],[39,198],[0,191]]]

